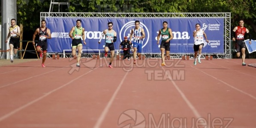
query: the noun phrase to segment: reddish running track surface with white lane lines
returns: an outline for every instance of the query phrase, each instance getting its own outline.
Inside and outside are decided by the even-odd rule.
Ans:
[[[256,128],[256,68],[241,59],[108,61],[0,67],[0,128]]]

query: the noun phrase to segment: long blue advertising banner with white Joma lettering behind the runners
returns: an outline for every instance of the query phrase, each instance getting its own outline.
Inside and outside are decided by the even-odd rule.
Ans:
[[[71,49],[72,40],[69,31],[76,26],[78,18],[53,18],[47,17],[46,27],[51,29],[51,39],[48,39],[48,52],[63,52],[63,49]],[[204,43],[202,53],[224,52],[224,19],[223,18],[80,18],[81,26],[85,28],[85,42],[83,49],[104,49],[105,37],[98,44],[103,30],[108,29],[108,22],[113,22],[113,29],[117,32],[115,49],[124,36],[130,37],[131,29],[135,27],[135,20],[140,21],[140,26],[145,30],[143,53],[160,53],[157,45],[157,34],[163,28],[163,21],[168,22],[174,38],[170,41],[171,53],[193,53],[193,31],[196,23],[200,23],[207,35],[209,43]],[[132,39],[133,40],[133,39]],[[161,40],[160,40],[161,42]]]

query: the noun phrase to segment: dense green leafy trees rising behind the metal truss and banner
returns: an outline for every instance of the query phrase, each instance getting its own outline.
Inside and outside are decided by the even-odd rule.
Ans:
[[[244,19],[253,40],[256,40],[256,2],[254,0],[68,0],[69,8],[60,5],[60,12],[231,12],[232,29]],[[55,0],[54,2],[66,2]],[[51,0],[17,0],[17,24],[23,24],[23,40],[32,40],[40,27],[40,12],[49,12]],[[54,5],[53,12],[58,12]],[[232,31],[232,30],[231,30]],[[234,56],[234,55],[233,55]],[[256,53],[247,53],[256,58]]]

